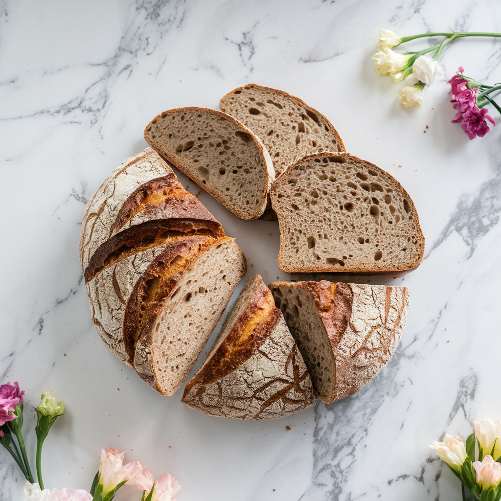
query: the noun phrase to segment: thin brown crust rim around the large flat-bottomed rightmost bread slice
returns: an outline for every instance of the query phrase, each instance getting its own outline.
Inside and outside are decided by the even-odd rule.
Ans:
[[[409,203],[409,208],[410,208],[410,215],[413,218],[414,224],[416,225],[416,233],[415,237],[418,239],[418,244],[416,245],[416,248],[418,249],[418,255],[415,259],[412,259],[410,262],[404,262],[404,263],[398,263],[393,266],[382,266],[378,264],[379,262],[375,263],[367,263],[364,266],[345,266],[343,264],[343,267],[339,267],[334,265],[329,265],[325,263],[314,263],[311,265],[305,265],[305,266],[291,266],[287,263],[287,257],[288,254],[290,254],[290,251],[286,244],[284,243],[284,235],[287,234],[287,227],[288,227],[288,219],[287,219],[287,214],[285,214],[284,211],[281,210],[281,201],[279,198],[279,194],[281,194],[281,190],[283,190],[284,186],[287,186],[288,180],[291,177],[294,177],[294,173],[298,171],[302,166],[305,164],[308,164],[309,162],[314,162],[315,159],[319,159],[322,157],[341,157],[344,159],[349,159],[353,160],[355,162],[362,162],[367,168],[370,168],[371,170],[375,171],[376,173],[383,175],[384,177],[388,177],[391,179],[392,183],[395,184],[396,188],[400,190],[401,194],[407,200]],[[279,250],[279,256],[278,256],[278,264],[279,268],[285,272],[289,273],[318,273],[318,272],[334,272],[334,273],[385,273],[385,272],[402,272],[402,271],[408,271],[408,270],[413,270],[417,268],[423,258],[424,254],[424,236],[421,231],[421,226],[419,224],[419,216],[416,210],[416,207],[414,205],[414,202],[412,201],[412,198],[409,196],[407,191],[404,189],[404,187],[400,184],[400,182],[395,179],[391,174],[388,172],[384,171],[377,165],[374,165],[373,163],[367,162],[366,160],[362,160],[358,157],[355,157],[353,155],[350,155],[349,153],[346,152],[323,152],[323,153],[318,153],[314,155],[308,155],[306,157],[301,158],[298,160],[296,163],[290,165],[287,170],[277,179],[277,181],[273,184],[272,189],[270,191],[270,197],[272,200],[272,206],[274,207],[277,216],[278,216],[278,221],[279,221],[279,227],[280,227],[280,250]],[[290,258],[290,256],[289,256]]]

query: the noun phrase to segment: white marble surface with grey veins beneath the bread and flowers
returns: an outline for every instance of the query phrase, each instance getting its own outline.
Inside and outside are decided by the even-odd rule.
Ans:
[[[99,448],[113,446],[156,476],[175,475],[179,501],[460,497],[428,444],[501,418],[501,123],[469,141],[450,123],[446,80],[459,65],[501,80],[501,45],[449,46],[444,76],[410,112],[396,101],[404,84],[378,76],[371,56],[381,28],[499,32],[500,19],[494,0],[0,0],[0,383],[26,390],[32,457],[30,406],[48,389],[67,405],[44,449],[47,486],[88,489]],[[325,114],[348,152],[404,185],[426,237],[421,266],[402,277],[335,278],[410,289],[402,342],[384,370],[352,397],[265,422],[210,418],[180,404],[182,390],[150,390],[102,345],[78,261],[87,199],[143,149],[151,118],[218,109],[245,83]],[[200,200],[254,265],[247,278],[289,278],[276,263],[277,223],[242,222],[205,192]],[[0,500],[23,499],[23,483],[0,451]],[[125,490],[117,499],[139,499]]]

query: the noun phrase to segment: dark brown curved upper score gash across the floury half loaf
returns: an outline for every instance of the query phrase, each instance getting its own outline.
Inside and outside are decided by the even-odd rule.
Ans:
[[[85,269],[85,282],[90,282],[106,268],[133,254],[193,235],[219,238],[224,236],[224,230],[218,221],[191,218],[147,221],[124,229],[96,250]]]

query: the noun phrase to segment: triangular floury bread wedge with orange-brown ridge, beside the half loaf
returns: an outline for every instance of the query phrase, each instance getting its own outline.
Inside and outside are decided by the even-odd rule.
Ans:
[[[259,275],[238,296],[181,402],[238,419],[283,417],[315,405],[301,354]]]

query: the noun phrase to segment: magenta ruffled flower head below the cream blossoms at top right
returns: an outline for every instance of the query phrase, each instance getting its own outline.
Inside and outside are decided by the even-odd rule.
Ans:
[[[458,68],[458,72],[462,73],[463,67]],[[468,134],[470,139],[476,136],[483,137],[489,132],[486,119],[492,124],[496,123],[487,115],[487,109],[478,108],[477,94],[478,87],[468,89],[468,80],[462,75],[454,75],[448,82],[451,86],[451,94],[453,107],[457,110],[456,116],[452,122],[461,122],[461,127]]]

